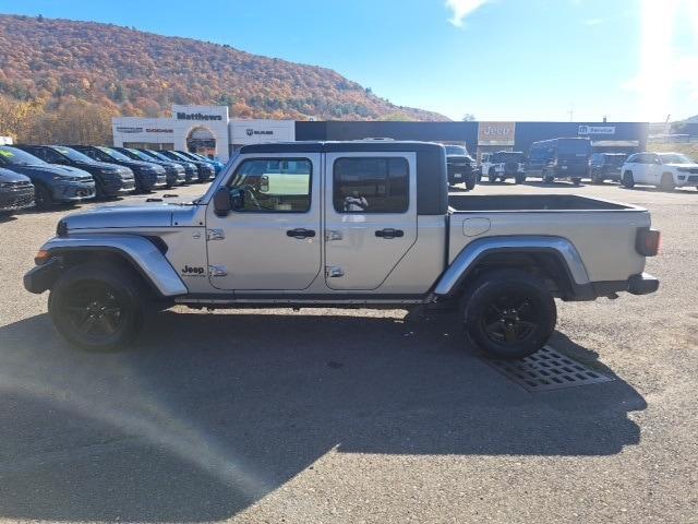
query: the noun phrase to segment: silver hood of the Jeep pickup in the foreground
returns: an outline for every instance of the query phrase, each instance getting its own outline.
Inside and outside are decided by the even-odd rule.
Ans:
[[[118,229],[135,227],[170,227],[188,224],[188,216],[196,205],[152,203],[142,205],[103,205],[64,217],[61,223],[68,230]],[[176,218],[177,217],[177,218]]]

